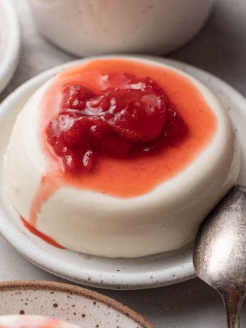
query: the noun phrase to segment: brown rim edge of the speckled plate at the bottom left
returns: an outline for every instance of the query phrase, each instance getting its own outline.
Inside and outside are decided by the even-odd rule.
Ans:
[[[20,291],[20,289],[23,291],[59,291],[60,293],[78,295],[112,307],[115,311],[136,322],[136,324],[141,324],[141,328],[154,328],[154,325],[151,322],[127,305],[124,305],[107,295],[100,294],[96,291],[90,291],[90,289],[81,286],[45,280],[16,280],[0,282],[0,293],[5,291]]]

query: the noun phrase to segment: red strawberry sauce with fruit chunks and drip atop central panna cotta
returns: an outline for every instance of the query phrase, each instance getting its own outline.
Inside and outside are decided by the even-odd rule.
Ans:
[[[61,72],[40,104],[47,168],[28,222],[64,185],[121,198],[151,192],[196,158],[216,124],[199,90],[168,68],[98,59]]]

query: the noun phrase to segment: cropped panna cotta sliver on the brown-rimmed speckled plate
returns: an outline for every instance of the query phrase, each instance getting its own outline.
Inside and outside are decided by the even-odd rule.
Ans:
[[[0,316],[1,328],[79,328],[76,324],[37,315]]]

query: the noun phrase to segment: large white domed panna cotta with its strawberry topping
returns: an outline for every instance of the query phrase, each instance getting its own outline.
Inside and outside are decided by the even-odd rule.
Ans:
[[[133,57],[86,59],[47,81],[18,115],[5,156],[25,226],[54,246],[104,257],[192,242],[239,165],[211,91]]]

